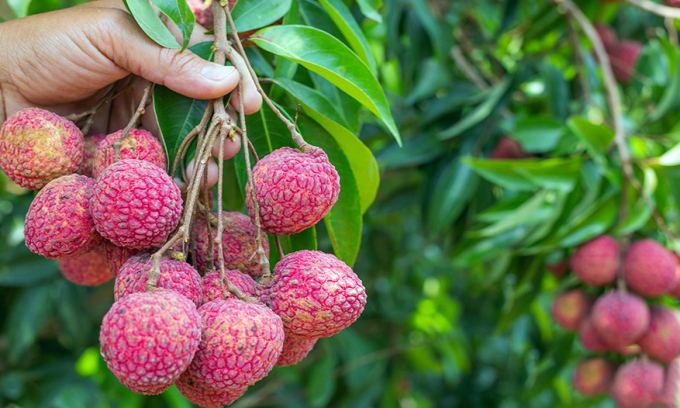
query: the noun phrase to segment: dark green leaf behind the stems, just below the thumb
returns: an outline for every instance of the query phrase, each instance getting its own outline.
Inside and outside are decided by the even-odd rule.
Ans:
[[[211,46],[212,43],[204,42],[194,45],[190,50],[201,58],[210,60]],[[208,101],[188,98],[161,85],[154,87],[153,108],[168,157],[168,172],[172,170],[182,142],[201,122],[206,106]]]

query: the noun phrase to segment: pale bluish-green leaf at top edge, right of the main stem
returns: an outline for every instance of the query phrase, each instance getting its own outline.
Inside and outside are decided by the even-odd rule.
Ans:
[[[231,12],[238,32],[267,26],[283,17],[292,0],[238,0]],[[228,28],[228,27],[227,27]]]

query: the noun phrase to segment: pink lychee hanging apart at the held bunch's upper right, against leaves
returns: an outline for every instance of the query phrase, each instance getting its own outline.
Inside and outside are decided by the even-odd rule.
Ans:
[[[290,235],[316,224],[328,214],[340,193],[340,176],[318,147],[301,152],[290,147],[274,150],[253,168],[255,196],[262,230]],[[250,187],[246,205],[255,216]]]

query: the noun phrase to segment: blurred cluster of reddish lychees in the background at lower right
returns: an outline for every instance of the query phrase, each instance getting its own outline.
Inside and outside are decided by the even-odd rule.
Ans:
[[[552,316],[577,331],[587,351],[574,387],[609,393],[621,408],[675,407],[680,371],[680,320],[660,297],[680,295],[680,258],[651,239],[622,249],[609,235],[579,247],[569,267],[583,287],[558,295]],[[566,262],[550,265],[561,274]]]

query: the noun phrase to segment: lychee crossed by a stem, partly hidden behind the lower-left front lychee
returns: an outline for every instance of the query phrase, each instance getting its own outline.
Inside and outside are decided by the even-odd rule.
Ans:
[[[131,293],[144,292],[152,267],[153,259],[150,254],[140,254],[128,259],[116,275],[113,298],[120,300]],[[174,290],[194,302],[196,307],[201,306],[203,287],[201,275],[196,269],[184,261],[167,258],[161,258],[159,269],[157,287]]]

